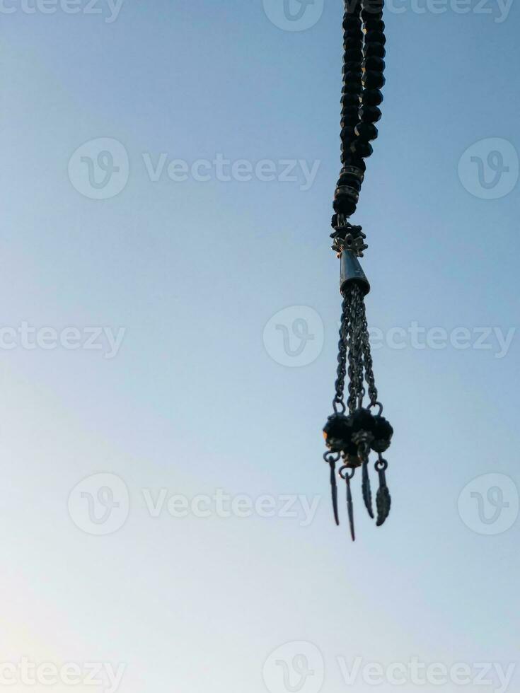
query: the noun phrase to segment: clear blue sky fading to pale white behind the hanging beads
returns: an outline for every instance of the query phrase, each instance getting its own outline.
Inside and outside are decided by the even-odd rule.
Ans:
[[[275,26],[260,0],[126,0],[112,23],[106,11],[15,7],[0,17],[0,323],[126,333],[114,359],[0,350],[2,661],[126,663],[130,693],[260,692],[265,659],[288,641],[320,648],[330,692],[345,689],[337,656],[516,662],[518,520],[483,536],[476,503],[471,528],[458,497],[482,474],[520,483],[518,334],[501,359],[495,346],[376,350],[395,428],[393,513],[376,530],[357,494],[355,545],[330,517],[321,428],[340,316],[328,235],[342,4],[325,0],[301,32]],[[518,327],[519,188],[475,197],[458,163],[478,141],[520,147],[519,8],[497,22],[492,3],[405,7],[386,15],[383,120],[355,217],[369,235],[369,321],[384,334],[412,322],[507,332]],[[130,175],[117,197],[93,200],[67,170],[100,137],[125,146]],[[319,170],[310,190],[151,182],[144,153]],[[514,176],[514,158],[504,164]],[[294,305],[324,326],[302,368],[277,363],[262,338]],[[96,472],[130,496],[127,522],[104,537],[67,512]],[[142,489],[163,488],[323,498],[307,527],[150,518]]]

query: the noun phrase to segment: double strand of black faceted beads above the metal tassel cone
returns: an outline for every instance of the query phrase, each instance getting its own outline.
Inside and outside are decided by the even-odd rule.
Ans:
[[[383,4],[384,0],[345,0],[342,170],[337,181],[332,220],[333,228],[341,230],[340,236],[345,238],[351,228],[359,228],[349,227],[345,220],[356,211],[366,170],[364,159],[374,151],[370,143],[378,135],[375,123],[381,119],[379,105],[383,101],[381,88],[385,83],[383,58],[386,55]],[[359,235],[354,233],[352,240],[356,238]]]

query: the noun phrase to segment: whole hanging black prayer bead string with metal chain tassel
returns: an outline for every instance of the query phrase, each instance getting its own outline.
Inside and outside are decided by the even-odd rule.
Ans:
[[[327,444],[325,462],[330,465],[330,487],[334,518],[340,524],[337,508],[336,465],[347,484],[347,511],[350,534],[355,540],[354,506],[351,481],[362,468],[362,495],[369,516],[374,519],[369,477],[369,455],[378,455],[376,471],[379,489],[376,496],[376,523],[385,523],[391,508],[386,484],[388,462],[383,453],[390,447],[392,426],[383,418],[383,405],[378,400],[370,352],[364,297],[370,284],[359,264],[359,257],[368,248],[361,226],[352,226],[349,219],[356,211],[364,180],[364,159],[374,151],[370,144],[378,130],[374,123],[381,119],[379,105],[386,55],[383,22],[384,0],[345,0],[343,18],[343,88],[341,112],[342,170],[334,196],[335,214],[333,250],[341,260],[340,291],[343,298],[337,380],[333,401],[334,414],[329,417],[323,434]],[[348,375],[348,397],[345,402],[345,379]],[[364,387],[366,382],[366,389]],[[364,406],[365,396],[369,402]],[[348,412],[347,412],[348,409]]]

